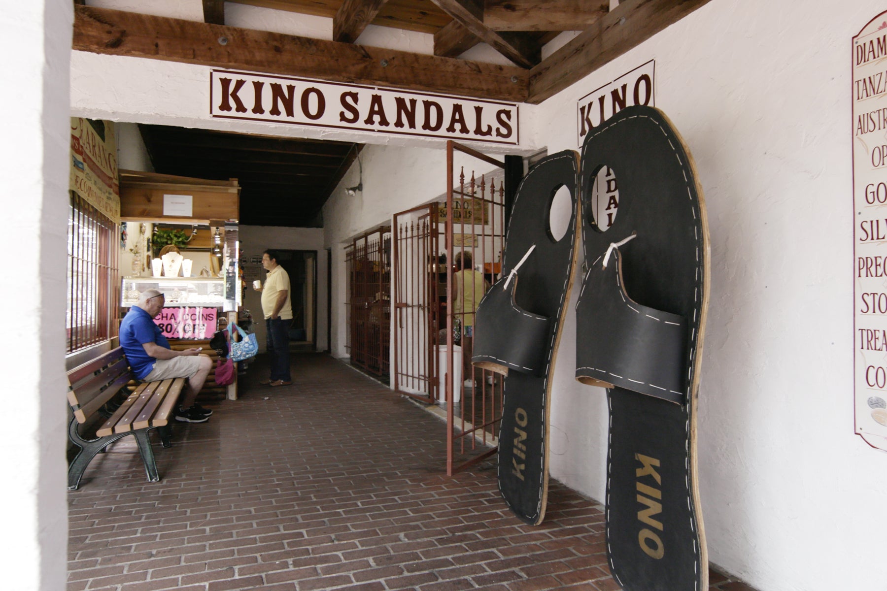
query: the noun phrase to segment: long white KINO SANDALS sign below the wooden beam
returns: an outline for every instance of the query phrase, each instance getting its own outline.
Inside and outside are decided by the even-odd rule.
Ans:
[[[514,103],[232,70],[210,70],[209,114],[488,144],[519,142]]]

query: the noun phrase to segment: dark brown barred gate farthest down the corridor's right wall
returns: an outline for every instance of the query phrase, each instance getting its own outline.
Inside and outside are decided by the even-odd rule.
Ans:
[[[345,248],[351,363],[388,377],[391,325],[391,229],[355,238]]]

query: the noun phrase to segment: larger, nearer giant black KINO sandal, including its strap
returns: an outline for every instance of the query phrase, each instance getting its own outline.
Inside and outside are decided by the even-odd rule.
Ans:
[[[585,138],[583,206],[616,174],[600,231],[584,211],[588,271],[577,303],[577,379],[608,389],[607,549],[631,591],[704,591],[708,556],[696,474],[696,401],[709,299],[709,237],[695,166],[652,107]]]

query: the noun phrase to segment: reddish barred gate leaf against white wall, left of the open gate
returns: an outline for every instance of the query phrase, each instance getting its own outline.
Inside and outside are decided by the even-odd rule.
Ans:
[[[443,392],[436,209],[432,204],[394,215],[394,389],[429,404]]]

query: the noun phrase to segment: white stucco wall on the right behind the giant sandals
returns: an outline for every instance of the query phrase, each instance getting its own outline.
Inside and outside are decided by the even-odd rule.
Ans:
[[[883,3],[714,0],[540,105],[576,148],[576,101],[648,59],[695,156],[711,297],[699,473],[710,560],[766,591],[884,589],[887,454],[853,434],[851,39]],[[616,171],[618,175],[618,171]],[[617,239],[614,237],[614,239]],[[603,498],[603,391],[554,378],[552,473]]]

